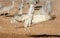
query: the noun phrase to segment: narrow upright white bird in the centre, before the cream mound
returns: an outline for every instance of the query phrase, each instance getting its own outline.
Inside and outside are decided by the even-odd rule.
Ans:
[[[31,4],[30,5],[30,8],[29,8],[29,11],[28,11],[28,18],[25,19],[24,21],[24,27],[27,28],[28,26],[30,27],[31,23],[32,23],[32,20],[33,20],[33,13],[34,13],[34,5]]]

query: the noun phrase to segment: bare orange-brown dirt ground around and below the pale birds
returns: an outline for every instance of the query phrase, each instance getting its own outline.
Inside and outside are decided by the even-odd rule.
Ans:
[[[0,3],[2,3],[2,1],[4,0],[0,0]],[[3,3],[4,6],[10,4],[9,1],[5,1]],[[16,1],[15,7],[10,11],[10,14],[14,14],[18,11],[17,3],[18,1]],[[52,15],[56,17],[55,19],[48,20],[38,24],[32,24],[31,27],[28,28],[24,28],[22,22],[18,22],[17,24],[11,24],[11,17],[0,16],[0,38],[28,38],[24,36],[43,34],[60,35],[60,0],[52,0],[52,6]],[[27,9],[25,8],[25,13],[26,10]]]

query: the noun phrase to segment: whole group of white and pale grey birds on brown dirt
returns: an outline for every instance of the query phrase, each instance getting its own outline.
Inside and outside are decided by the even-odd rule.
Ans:
[[[52,19],[51,17],[51,12],[52,12],[52,4],[51,0],[45,0],[44,5],[42,5],[41,8],[39,8],[38,12],[35,13],[34,6],[39,3],[40,0],[25,0],[27,4],[29,4],[29,10],[27,14],[23,13],[23,8],[24,8],[24,0],[22,0],[21,4],[19,4],[19,11],[17,14],[11,17],[10,22],[13,23],[18,23],[18,21],[22,21],[24,24],[24,27],[30,27],[31,24],[36,24],[40,23],[43,21],[47,21],[49,19]],[[2,7],[0,4],[0,15],[4,14],[6,11],[8,14],[10,13],[10,10],[13,9],[15,0],[12,0],[12,5]]]

